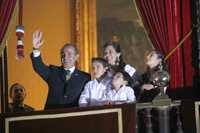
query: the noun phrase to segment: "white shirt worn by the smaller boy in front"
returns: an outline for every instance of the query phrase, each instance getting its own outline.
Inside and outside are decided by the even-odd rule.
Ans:
[[[119,102],[119,103],[129,103],[135,101],[134,90],[129,86],[122,86],[119,90],[107,89],[106,90],[106,100]]]

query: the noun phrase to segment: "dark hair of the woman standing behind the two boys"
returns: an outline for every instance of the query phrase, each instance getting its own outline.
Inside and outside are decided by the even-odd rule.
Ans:
[[[122,57],[122,52],[121,52],[120,44],[119,44],[119,43],[116,43],[116,42],[112,42],[112,41],[106,42],[106,43],[104,44],[104,46],[103,46],[104,51],[105,51],[105,49],[106,49],[108,46],[112,46],[112,47],[115,49],[115,51],[116,51],[117,53],[121,53],[120,56],[119,56],[119,60],[118,60],[118,63],[119,63],[118,66],[119,66],[120,68],[123,69],[124,66],[125,66],[126,64],[125,64],[125,62],[124,62],[124,60],[123,60],[123,57]]]

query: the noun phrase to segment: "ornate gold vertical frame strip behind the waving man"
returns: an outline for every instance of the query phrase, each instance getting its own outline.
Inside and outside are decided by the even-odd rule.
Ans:
[[[76,0],[75,12],[79,68],[89,72],[91,59],[97,56],[96,0]]]

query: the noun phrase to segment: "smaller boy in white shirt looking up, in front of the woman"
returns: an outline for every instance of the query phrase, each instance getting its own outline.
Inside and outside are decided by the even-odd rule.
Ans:
[[[134,90],[128,86],[130,76],[125,71],[118,71],[112,79],[112,87],[106,90],[107,104],[130,103],[135,101]]]

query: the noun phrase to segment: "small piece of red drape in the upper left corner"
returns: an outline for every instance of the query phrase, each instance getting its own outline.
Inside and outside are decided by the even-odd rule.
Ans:
[[[0,1],[0,43],[2,42],[17,0]]]

